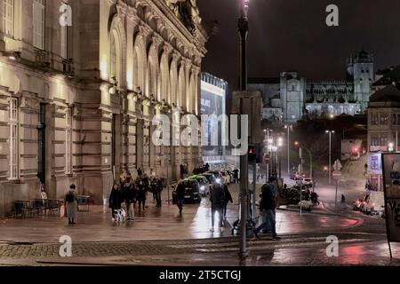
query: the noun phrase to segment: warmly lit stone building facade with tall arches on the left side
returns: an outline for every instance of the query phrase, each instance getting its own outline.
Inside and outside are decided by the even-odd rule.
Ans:
[[[196,0],[0,0],[0,217],[13,201],[97,203],[124,170],[176,179],[198,146],[154,146],[155,114],[200,114]]]

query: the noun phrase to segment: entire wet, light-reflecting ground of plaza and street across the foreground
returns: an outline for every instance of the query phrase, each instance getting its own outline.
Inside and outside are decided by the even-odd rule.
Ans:
[[[182,216],[175,206],[145,213],[132,224],[114,225],[109,212],[93,207],[68,226],[60,217],[7,219],[0,222],[0,265],[399,265],[390,262],[382,219],[353,211],[340,215],[278,210],[281,241],[263,236],[248,240],[249,257],[240,261],[239,239],[231,235],[237,217],[229,205],[223,233],[210,233],[209,202],[187,205]],[[72,257],[60,257],[60,235],[72,238]],[[327,257],[326,238],[339,239],[339,256]],[[400,246],[393,245],[400,257]]]

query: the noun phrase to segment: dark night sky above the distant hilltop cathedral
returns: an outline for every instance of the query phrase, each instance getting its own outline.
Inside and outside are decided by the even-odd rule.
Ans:
[[[325,24],[328,4],[339,6],[340,27]],[[206,47],[203,71],[237,89],[239,0],[197,0],[204,20],[219,32]],[[297,70],[306,79],[345,79],[346,58],[375,56],[375,71],[400,65],[400,0],[250,0],[249,77]],[[228,99],[229,100],[229,99]]]

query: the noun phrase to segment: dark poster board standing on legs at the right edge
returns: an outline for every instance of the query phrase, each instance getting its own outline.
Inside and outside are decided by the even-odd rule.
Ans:
[[[385,215],[389,242],[400,242],[400,154],[382,154]]]

